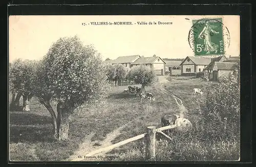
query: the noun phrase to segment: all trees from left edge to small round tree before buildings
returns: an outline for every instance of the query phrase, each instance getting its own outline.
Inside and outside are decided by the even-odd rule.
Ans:
[[[83,45],[77,36],[59,38],[39,61],[16,59],[9,63],[10,110],[30,111],[35,98],[52,118],[54,138],[68,139],[69,117],[84,104],[95,104],[111,91],[111,82],[134,79],[144,87],[154,83],[154,70],[136,66],[105,65],[93,45]],[[54,105],[56,107],[54,107]],[[56,112],[55,112],[56,111]]]

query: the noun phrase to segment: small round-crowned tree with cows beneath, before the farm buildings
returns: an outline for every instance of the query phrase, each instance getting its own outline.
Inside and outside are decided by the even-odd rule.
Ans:
[[[145,92],[145,86],[150,86],[156,81],[156,74],[154,69],[145,65],[132,67],[127,74],[129,80],[141,84],[141,92]]]

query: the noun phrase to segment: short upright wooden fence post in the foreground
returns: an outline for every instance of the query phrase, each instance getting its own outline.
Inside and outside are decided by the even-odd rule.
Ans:
[[[147,161],[156,161],[156,127],[147,127],[145,158]]]

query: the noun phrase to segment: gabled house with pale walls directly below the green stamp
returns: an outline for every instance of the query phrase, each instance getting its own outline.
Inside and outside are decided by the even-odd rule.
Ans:
[[[181,62],[181,75],[183,76],[194,76],[196,73],[202,72],[207,65],[211,62],[209,57],[194,57],[187,56]]]

